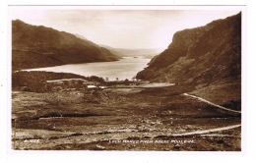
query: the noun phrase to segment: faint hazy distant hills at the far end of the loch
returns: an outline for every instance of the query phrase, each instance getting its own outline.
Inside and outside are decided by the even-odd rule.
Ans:
[[[114,48],[107,45],[100,45],[109,49],[113,54],[121,57],[136,57],[142,56],[145,58],[153,58],[156,55],[160,54],[160,49],[158,48],[149,48],[149,49],[127,49],[127,48]]]

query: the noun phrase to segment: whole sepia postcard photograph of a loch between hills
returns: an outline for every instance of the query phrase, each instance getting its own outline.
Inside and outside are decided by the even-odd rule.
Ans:
[[[242,7],[8,10],[13,150],[243,150]]]

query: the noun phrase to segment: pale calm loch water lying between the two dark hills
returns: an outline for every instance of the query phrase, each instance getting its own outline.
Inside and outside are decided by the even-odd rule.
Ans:
[[[55,67],[29,69],[26,71],[45,71],[54,73],[73,73],[85,77],[97,76],[109,81],[132,80],[138,72],[147,67],[150,59],[124,57],[115,62],[97,62],[85,64],[69,64]]]

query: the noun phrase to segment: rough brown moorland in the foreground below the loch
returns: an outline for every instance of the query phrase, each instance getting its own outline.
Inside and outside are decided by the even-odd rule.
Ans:
[[[240,151],[240,115],[183,95],[190,89],[116,86],[91,98],[78,89],[14,90],[12,145],[18,150]]]

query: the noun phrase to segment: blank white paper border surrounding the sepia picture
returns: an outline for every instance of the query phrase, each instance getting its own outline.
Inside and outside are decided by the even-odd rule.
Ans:
[[[170,1],[170,2],[164,2],[159,1],[157,5],[246,5],[247,12],[243,10],[242,19],[243,21],[247,21],[247,26],[243,24],[243,59],[242,59],[242,75],[243,75],[243,86],[242,86],[242,95],[243,95],[243,101],[242,101],[242,107],[243,107],[243,114],[242,114],[242,152],[121,152],[121,151],[106,151],[106,152],[94,152],[94,151],[13,151],[9,150],[8,145],[10,144],[7,139],[7,131],[8,128],[7,124],[10,121],[10,110],[11,109],[11,96],[10,96],[10,61],[7,62],[8,57],[7,53],[7,45],[10,44],[10,40],[8,41],[8,5],[125,5],[125,4],[133,4],[133,5],[156,5],[156,1],[136,1],[135,3],[126,2],[123,0],[119,1],[87,1],[85,3],[84,1],[61,1],[59,3],[53,2],[53,1],[43,1],[43,2],[33,2],[30,0],[21,1],[11,1],[11,2],[1,2],[1,24],[0,24],[0,38],[1,38],[1,48],[0,48],[0,70],[1,70],[1,76],[0,76],[0,93],[1,93],[1,124],[0,124],[0,157],[1,162],[34,162],[34,161],[61,161],[61,162],[72,162],[74,160],[81,160],[81,161],[100,161],[100,162],[251,162],[255,159],[255,140],[254,138],[255,133],[252,132],[252,130],[255,128],[253,127],[253,124],[255,124],[255,115],[253,114],[253,89],[255,86],[255,79],[253,79],[253,74],[255,74],[255,68],[253,65],[253,61],[255,59],[256,53],[255,52],[255,46],[252,46],[253,41],[255,42],[252,32],[255,30],[255,25],[253,25],[253,20],[255,19],[255,5],[253,3],[248,3],[247,1],[211,1],[208,0],[207,2],[204,1],[193,1],[193,3],[185,0],[181,0],[179,2],[177,1]],[[111,7],[111,6],[110,6]],[[151,7],[151,6],[150,6]],[[160,8],[168,8],[169,6],[162,6]],[[202,7],[202,6],[201,6]],[[233,6],[235,8],[235,6]],[[122,7],[120,7],[122,8]],[[127,7],[123,7],[127,8]],[[131,8],[137,8],[135,6],[132,6]],[[223,8],[223,6],[220,6],[220,8]],[[205,9],[205,8],[204,8]],[[248,13],[248,14],[246,14]],[[253,15],[254,14],[254,15]],[[248,30],[247,30],[248,27]],[[245,36],[247,32],[248,37]],[[248,41],[246,41],[248,40]],[[247,46],[248,43],[248,46]],[[10,45],[9,45],[10,46]],[[247,50],[248,47],[248,50]],[[10,54],[10,53],[9,53]],[[245,54],[245,55],[244,55]],[[7,72],[7,70],[9,72]],[[247,84],[249,83],[249,84]],[[251,87],[252,86],[252,87]],[[250,88],[249,88],[250,87]],[[256,90],[256,89],[254,89]],[[9,100],[7,100],[8,98]],[[8,101],[8,102],[7,102]],[[8,109],[8,110],[7,110]],[[245,113],[246,112],[246,113]],[[245,114],[244,114],[245,113]],[[9,115],[7,117],[6,115]],[[10,125],[10,124],[9,124]],[[246,131],[246,135],[245,135]],[[10,138],[8,139],[10,140]],[[8,144],[9,143],[9,144]],[[245,149],[245,150],[244,150]]]

